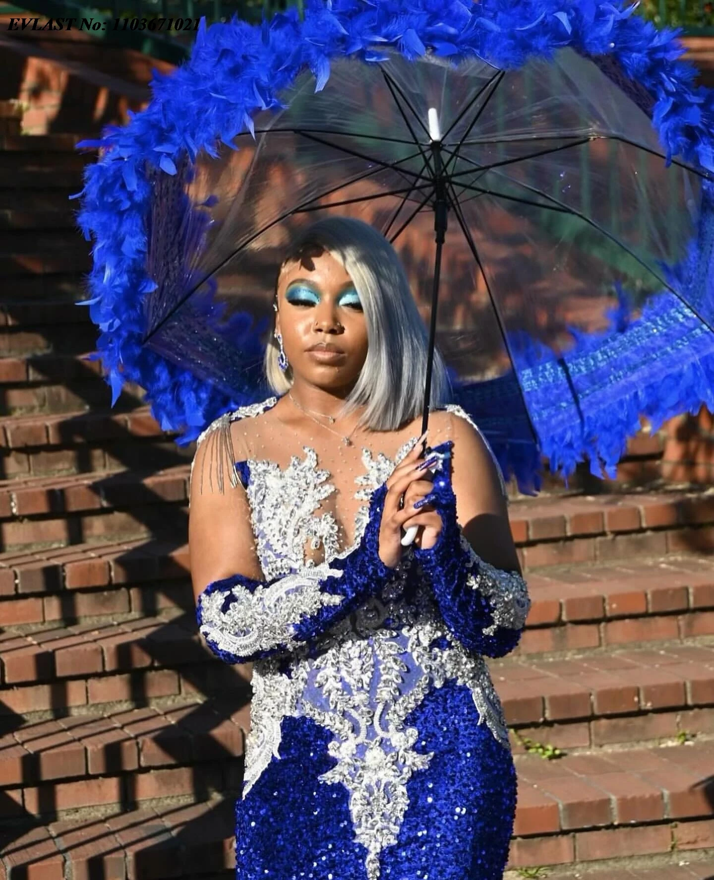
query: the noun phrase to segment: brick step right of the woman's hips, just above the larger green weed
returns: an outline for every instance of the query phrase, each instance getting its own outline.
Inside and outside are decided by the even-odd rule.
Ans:
[[[714,639],[489,662],[514,752],[714,734]]]

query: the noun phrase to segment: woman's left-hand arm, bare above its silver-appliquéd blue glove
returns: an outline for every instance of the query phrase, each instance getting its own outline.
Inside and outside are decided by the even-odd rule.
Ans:
[[[218,431],[200,443],[193,471],[215,469],[225,449]],[[226,461],[224,473],[232,463]],[[195,483],[195,485],[194,485]],[[345,557],[266,581],[241,484],[220,491],[192,479],[188,523],[193,594],[200,633],[208,647],[230,664],[247,663],[295,649],[330,629],[369,595],[382,589],[395,569],[377,553],[386,486],[370,501],[361,543]]]

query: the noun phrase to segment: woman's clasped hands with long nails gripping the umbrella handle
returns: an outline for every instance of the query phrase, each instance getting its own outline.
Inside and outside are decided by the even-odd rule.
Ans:
[[[397,465],[390,479],[387,480],[387,494],[384,496],[382,523],[379,530],[379,558],[384,565],[394,568],[402,558],[402,529],[411,525],[423,526],[417,534],[414,544],[428,550],[434,546],[441,533],[441,517],[429,504],[415,507],[434,488],[432,475],[426,469],[429,464],[420,458],[421,442],[426,433],[419,437],[412,451]],[[400,508],[400,500],[404,495],[404,507]]]

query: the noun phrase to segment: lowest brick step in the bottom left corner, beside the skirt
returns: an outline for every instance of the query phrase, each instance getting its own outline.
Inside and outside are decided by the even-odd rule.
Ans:
[[[0,865],[7,880],[231,880],[234,802],[235,797],[225,797],[137,808],[130,800],[102,818],[62,819],[5,832]]]

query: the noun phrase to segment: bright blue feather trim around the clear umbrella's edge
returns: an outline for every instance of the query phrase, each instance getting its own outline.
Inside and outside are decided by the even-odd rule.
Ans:
[[[265,396],[261,388],[231,394],[142,348],[142,303],[154,287],[147,274],[149,176],[156,169],[173,175],[185,153],[192,160],[201,150],[215,156],[219,139],[230,144],[239,132],[251,131],[252,116],[280,106],[277,96],[300,71],[310,69],[316,88],[323,87],[333,57],[378,62],[383,47],[407,58],[431,47],[455,61],[478,55],[509,70],[570,46],[596,62],[616,61],[624,76],[650,96],[648,112],[669,158],[714,170],[714,93],[694,84],[696,69],[680,60],[685,50],[677,32],[657,31],[632,15],[633,9],[598,0],[413,0],[408,6],[396,0],[310,0],[303,21],[294,9],[262,26],[234,16],[207,27],[201,19],[189,61],[171,74],[154,71],[149,106],[130,112],[127,126],[106,126],[98,140],[77,144],[78,149],[104,150],[85,168],[84,188],[73,197],[81,197],[77,221],[84,237],[95,241],[91,297],[84,304],[102,331],[97,352],[112,387],[112,406],[125,382],[141,385],[162,429],[178,431],[177,443],[188,444],[220,414]],[[570,434],[565,428],[553,437],[542,433],[550,416],[532,410],[551,464],[569,473],[590,456],[603,458],[611,468],[623,448],[623,431],[628,436],[638,429],[636,411],[657,421],[691,410],[697,400],[699,405],[710,400],[701,373],[710,366],[688,361],[684,370],[673,369],[666,398],[655,400],[653,394],[632,389],[617,401],[615,412],[603,410],[592,425]],[[538,405],[535,399],[529,402]],[[470,413],[481,421],[478,411]],[[487,425],[485,434],[494,450],[501,449],[505,473],[515,473],[523,486],[534,485],[536,447],[528,451],[515,442],[506,448],[502,437],[489,436]]]

